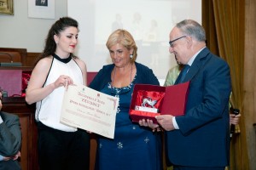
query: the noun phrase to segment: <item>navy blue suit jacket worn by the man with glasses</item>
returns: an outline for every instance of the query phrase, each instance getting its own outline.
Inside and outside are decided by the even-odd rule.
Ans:
[[[179,130],[166,132],[169,161],[188,167],[225,167],[230,154],[230,67],[204,48],[189,68],[183,82],[187,81],[185,116],[176,117]]]

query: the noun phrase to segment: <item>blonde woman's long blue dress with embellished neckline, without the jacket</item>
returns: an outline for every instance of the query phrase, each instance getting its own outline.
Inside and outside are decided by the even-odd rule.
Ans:
[[[135,78],[136,79],[136,78]],[[113,88],[108,82],[102,93],[119,97],[114,139],[99,136],[96,169],[99,170],[160,170],[161,141],[159,133],[131,122],[129,108],[134,84]]]

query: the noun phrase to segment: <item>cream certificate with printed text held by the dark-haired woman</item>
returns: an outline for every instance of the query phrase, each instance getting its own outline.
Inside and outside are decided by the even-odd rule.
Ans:
[[[61,122],[113,139],[118,105],[119,98],[71,85],[63,97]]]

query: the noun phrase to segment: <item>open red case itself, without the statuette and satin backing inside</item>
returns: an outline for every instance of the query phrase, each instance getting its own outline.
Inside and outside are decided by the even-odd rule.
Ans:
[[[164,99],[162,100],[158,113],[148,111],[137,111],[135,110],[137,102],[137,94],[140,90],[146,90],[148,92],[160,92],[165,93]],[[186,103],[189,94],[189,82],[183,82],[177,85],[168,87],[161,87],[148,84],[136,84],[131,97],[130,105],[130,117],[132,122],[139,122],[142,119],[151,119],[154,123],[156,119],[154,116],[158,115],[172,115],[182,116],[186,109]]]

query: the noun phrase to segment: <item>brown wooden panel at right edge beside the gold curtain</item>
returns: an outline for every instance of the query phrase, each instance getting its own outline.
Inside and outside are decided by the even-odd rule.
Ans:
[[[246,0],[245,22],[245,63],[244,63],[244,106],[245,125],[247,132],[247,152],[250,169],[256,169],[256,133],[253,123],[256,123],[256,1]]]

